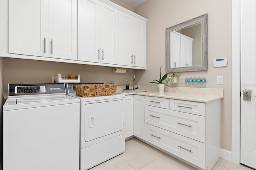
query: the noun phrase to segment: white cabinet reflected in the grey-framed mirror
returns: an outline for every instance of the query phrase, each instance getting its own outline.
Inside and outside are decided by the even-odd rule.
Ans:
[[[170,59],[171,67],[192,66],[193,38],[171,32],[170,34]]]

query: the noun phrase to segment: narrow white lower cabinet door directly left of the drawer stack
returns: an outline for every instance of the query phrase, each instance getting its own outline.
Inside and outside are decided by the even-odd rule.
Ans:
[[[133,134],[145,140],[145,97],[133,96]]]

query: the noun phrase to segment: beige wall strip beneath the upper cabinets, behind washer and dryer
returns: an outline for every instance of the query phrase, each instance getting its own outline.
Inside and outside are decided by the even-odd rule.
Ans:
[[[58,63],[28,59],[4,58],[4,92],[8,83],[52,83],[52,76],[57,73],[80,74],[81,83],[132,84],[134,69],[126,69],[126,73],[114,73],[113,67]]]

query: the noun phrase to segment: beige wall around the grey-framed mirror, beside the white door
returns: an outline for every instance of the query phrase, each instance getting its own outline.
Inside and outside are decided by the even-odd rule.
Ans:
[[[165,29],[208,13],[208,71],[185,72],[187,76],[205,76],[207,87],[224,88],[221,101],[221,148],[231,150],[231,0],[148,0],[135,12],[147,22],[147,70],[136,70],[139,85],[152,85],[158,79],[160,65],[165,64]],[[227,57],[226,67],[213,67],[214,58]],[[164,73],[164,71],[163,71]],[[216,84],[216,76],[224,76],[224,84]],[[184,85],[184,84],[180,84]]]

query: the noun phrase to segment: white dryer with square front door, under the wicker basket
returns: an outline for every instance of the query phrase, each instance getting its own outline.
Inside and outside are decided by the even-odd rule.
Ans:
[[[124,95],[76,96],[74,84],[67,94],[80,99],[80,169],[89,169],[124,152]]]

